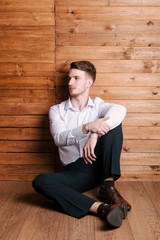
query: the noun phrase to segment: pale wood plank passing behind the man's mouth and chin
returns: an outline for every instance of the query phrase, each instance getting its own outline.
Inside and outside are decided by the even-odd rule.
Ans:
[[[67,98],[68,90],[65,87],[57,87],[58,98]],[[64,94],[65,92],[65,94]],[[91,96],[99,96],[102,99],[121,100],[154,100],[160,99],[159,87],[99,87],[93,86],[90,91]]]

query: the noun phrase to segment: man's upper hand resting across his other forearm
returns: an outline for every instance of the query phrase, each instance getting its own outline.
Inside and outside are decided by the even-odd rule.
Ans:
[[[105,117],[105,118],[100,118],[100,119],[96,120],[95,122],[88,123],[89,131],[100,134],[100,135],[105,135],[110,130],[110,126],[106,122],[106,120],[108,120],[108,119],[109,119],[109,117]]]

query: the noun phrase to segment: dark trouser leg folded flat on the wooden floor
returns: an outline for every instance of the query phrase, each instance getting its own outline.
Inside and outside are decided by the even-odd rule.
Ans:
[[[40,174],[33,181],[33,187],[48,199],[56,200],[67,214],[81,218],[95,202],[81,193],[95,186],[91,168],[80,158],[60,173]]]

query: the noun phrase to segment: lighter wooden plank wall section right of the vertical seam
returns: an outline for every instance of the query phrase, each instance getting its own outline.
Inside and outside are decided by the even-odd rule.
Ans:
[[[91,96],[126,106],[122,174],[159,179],[160,1],[57,0],[56,70],[89,60],[97,67]],[[56,100],[64,98],[56,79]]]

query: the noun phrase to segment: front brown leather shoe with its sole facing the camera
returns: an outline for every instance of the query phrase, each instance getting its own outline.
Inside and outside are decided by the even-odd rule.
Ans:
[[[102,217],[106,220],[107,225],[111,228],[118,228],[122,224],[122,220],[127,216],[127,205],[105,205]]]

